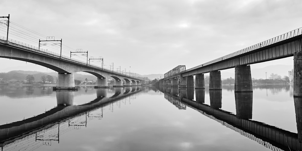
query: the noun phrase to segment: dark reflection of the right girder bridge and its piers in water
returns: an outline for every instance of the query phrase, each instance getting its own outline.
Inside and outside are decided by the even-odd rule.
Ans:
[[[252,92],[235,93],[236,114],[221,110],[222,91],[210,90],[210,105],[204,104],[205,89],[176,89],[160,87],[159,90],[165,94],[165,98],[176,107],[184,106],[193,108],[201,114],[216,120],[251,140],[262,144],[271,150],[301,150],[302,149],[302,98],[294,98],[296,111],[297,131],[292,133],[252,119]],[[192,94],[195,100],[192,100]],[[208,90],[207,90],[208,91]],[[182,109],[182,108],[180,108]]]

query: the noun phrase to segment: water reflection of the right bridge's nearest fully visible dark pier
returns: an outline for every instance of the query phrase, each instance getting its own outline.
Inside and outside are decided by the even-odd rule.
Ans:
[[[235,92],[236,117],[252,119],[253,92]]]

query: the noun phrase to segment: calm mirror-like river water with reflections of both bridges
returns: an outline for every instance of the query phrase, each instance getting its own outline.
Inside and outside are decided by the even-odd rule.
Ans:
[[[292,85],[205,89],[0,85],[0,146],[13,150],[299,150]],[[299,136],[299,137],[298,137]]]

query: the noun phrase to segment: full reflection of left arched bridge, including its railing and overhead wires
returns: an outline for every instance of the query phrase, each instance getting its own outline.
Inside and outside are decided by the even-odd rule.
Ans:
[[[90,120],[101,120],[105,108],[113,112],[113,103],[116,102],[120,108],[120,101],[126,104],[127,98],[130,102],[130,98],[135,99],[147,90],[141,86],[117,87],[111,97],[107,97],[107,88],[97,88],[95,91],[95,100],[73,105],[75,90],[56,90],[57,107],[35,117],[0,125],[1,150],[33,150],[42,145],[51,145],[52,141],[59,143],[60,135],[87,127]]]

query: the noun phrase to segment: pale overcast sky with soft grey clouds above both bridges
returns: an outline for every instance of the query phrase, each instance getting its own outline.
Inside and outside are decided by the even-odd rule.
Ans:
[[[6,0],[0,16],[143,75],[189,69],[302,27],[301,8],[299,0]],[[0,72],[51,71],[4,58],[0,64]],[[293,60],[251,67],[272,64]]]

